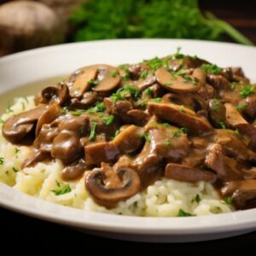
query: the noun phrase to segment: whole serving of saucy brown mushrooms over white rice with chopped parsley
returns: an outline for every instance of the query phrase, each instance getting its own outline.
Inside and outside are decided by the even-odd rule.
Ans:
[[[1,118],[0,181],[95,212],[195,216],[255,207],[255,85],[180,49],[82,67]]]

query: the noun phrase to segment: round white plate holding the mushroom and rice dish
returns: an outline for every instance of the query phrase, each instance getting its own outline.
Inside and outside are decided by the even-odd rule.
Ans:
[[[71,73],[93,63],[120,64],[176,51],[198,55],[219,66],[241,66],[256,81],[256,48],[194,40],[109,40],[64,44],[0,59],[0,94],[20,84]],[[190,218],[141,218],[84,212],[22,194],[0,183],[0,205],[100,236],[133,241],[203,241],[256,230],[256,209]]]

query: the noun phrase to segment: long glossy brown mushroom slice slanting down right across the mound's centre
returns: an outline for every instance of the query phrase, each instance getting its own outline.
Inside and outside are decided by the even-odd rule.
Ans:
[[[172,103],[148,102],[148,112],[173,124],[185,126],[194,134],[200,135],[212,131],[212,125],[207,119],[196,116],[194,111],[183,106]]]

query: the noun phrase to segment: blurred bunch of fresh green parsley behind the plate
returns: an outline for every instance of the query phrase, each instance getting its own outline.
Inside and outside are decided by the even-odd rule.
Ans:
[[[105,38],[198,38],[230,36],[253,44],[211,13],[201,13],[197,0],[88,0],[73,10],[74,41]],[[179,53],[177,53],[177,58]]]

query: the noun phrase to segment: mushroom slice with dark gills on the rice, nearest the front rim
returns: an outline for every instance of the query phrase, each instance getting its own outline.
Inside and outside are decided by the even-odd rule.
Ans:
[[[88,173],[85,187],[97,203],[104,207],[116,207],[119,201],[125,201],[140,190],[140,178],[133,169],[122,167],[113,171],[108,164],[102,163]]]

